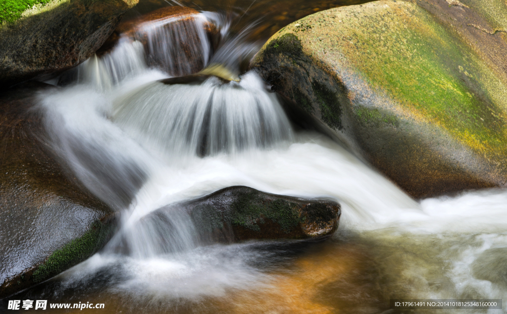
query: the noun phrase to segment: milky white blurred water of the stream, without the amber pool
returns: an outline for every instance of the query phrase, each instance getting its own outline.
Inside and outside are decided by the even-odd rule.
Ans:
[[[62,275],[69,285],[83,274],[119,261],[128,279],[115,289],[132,294],[191,298],[266,283],[269,276],[247,264],[261,258],[247,253],[248,245],[201,248],[191,236],[194,226],[185,217],[166,217],[162,226],[143,220],[166,204],[246,185],[270,193],[336,200],[342,204],[341,230],[358,234],[386,230],[400,237],[437,235],[450,243],[449,252],[442,256],[452,265],[448,275],[454,286],[431,297],[455,297],[470,289],[481,296],[505,297],[506,282],[501,278],[506,265],[498,253],[507,248],[505,190],[416,202],[327,137],[294,134],[279,103],[254,74],[226,87],[211,79],[174,88],[153,83],[167,75],[145,68],[140,50],[127,50],[111,58],[125,61],[125,55],[133,56],[142,71],[113,71],[134,66],[108,67],[120,60],[91,60],[83,66],[95,71],[94,79],[41,95],[53,145],[77,177],[117,207],[123,194],[135,194],[124,211],[121,231],[106,251]],[[108,79],[101,73],[107,73]],[[213,106],[234,114],[210,115],[210,125],[227,125],[231,138],[239,134],[242,140],[221,144],[216,138],[222,135],[216,136],[207,140],[206,154],[200,154],[200,121],[212,93],[219,95]],[[190,136],[185,137],[185,132]],[[267,135],[269,141],[260,140]],[[241,145],[247,149],[237,149]],[[90,158],[94,162],[87,162]],[[132,169],[139,171],[132,175]],[[128,250],[119,254],[125,242]]]

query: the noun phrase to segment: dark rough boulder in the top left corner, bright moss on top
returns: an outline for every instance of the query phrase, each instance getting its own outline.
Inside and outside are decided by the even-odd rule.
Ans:
[[[138,0],[54,0],[0,25],[0,84],[63,71],[90,57]]]

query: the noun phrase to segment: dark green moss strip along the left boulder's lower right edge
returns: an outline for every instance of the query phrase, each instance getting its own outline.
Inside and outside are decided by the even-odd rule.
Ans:
[[[89,258],[101,248],[111,229],[111,226],[105,226],[101,222],[94,223],[82,237],[70,241],[60,250],[53,252],[47,261],[33,272],[33,283],[45,281]]]

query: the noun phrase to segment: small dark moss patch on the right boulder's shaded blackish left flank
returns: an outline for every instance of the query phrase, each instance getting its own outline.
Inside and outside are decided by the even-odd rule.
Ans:
[[[341,108],[336,94],[315,80],[312,81],[312,89],[320,107],[322,121],[332,128],[341,130]]]

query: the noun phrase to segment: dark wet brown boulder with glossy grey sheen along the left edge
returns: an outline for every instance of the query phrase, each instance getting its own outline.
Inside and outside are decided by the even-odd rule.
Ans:
[[[53,154],[35,98],[43,83],[0,93],[0,299],[103,247],[116,212]]]

